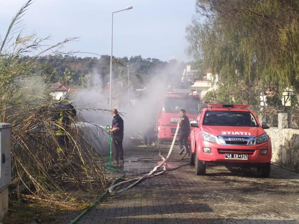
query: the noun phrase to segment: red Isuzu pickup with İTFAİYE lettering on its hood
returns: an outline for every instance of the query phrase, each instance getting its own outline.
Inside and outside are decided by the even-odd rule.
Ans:
[[[269,177],[272,145],[249,105],[206,104],[190,122],[190,164],[205,175],[208,164],[256,167],[259,177]]]

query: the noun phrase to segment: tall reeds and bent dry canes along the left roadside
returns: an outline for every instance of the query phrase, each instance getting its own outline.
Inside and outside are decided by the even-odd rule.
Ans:
[[[36,202],[39,208],[48,211],[80,210],[85,203],[82,204],[73,192],[67,191],[75,187],[76,191],[84,189],[98,194],[100,188],[106,187],[103,163],[99,157],[96,157],[97,162],[93,162],[95,157],[90,151],[90,135],[79,134],[83,133],[83,126],[74,125],[66,131],[74,146],[67,158],[69,167],[57,164],[57,141],[53,129],[56,102],[48,92],[55,70],[45,60],[62,58],[63,54],[67,54],[60,51],[62,45],[74,38],[48,46],[42,45],[47,38],[23,36],[20,18],[30,4],[31,1],[28,1],[18,11],[0,42],[0,122],[12,124],[12,182],[9,191],[13,191],[13,200]],[[72,73],[67,69],[64,71],[65,79],[71,80]],[[75,123],[75,120],[72,122]],[[95,184],[92,183],[93,178]],[[19,191],[21,188],[23,192]],[[9,220],[12,220],[11,223],[22,222]]]

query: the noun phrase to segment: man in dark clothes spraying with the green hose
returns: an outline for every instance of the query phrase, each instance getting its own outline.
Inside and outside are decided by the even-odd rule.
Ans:
[[[107,131],[112,135],[112,154],[114,165],[123,164],[123,119],[119,116],[117,109],[112,109],[112,125]]]

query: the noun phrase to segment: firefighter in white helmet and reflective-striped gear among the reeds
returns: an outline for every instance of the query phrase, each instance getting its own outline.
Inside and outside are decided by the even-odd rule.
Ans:
[[[72,102],[68,99],[65,93],[58,93],[55,99],[58,101],[55,104],[57,111],[55,112],[55,139],[57,142],[57,154],[60,160],[61,155],[67,158],[67,150],[69,148],[68,131],[71,128],[71,120],[77,115]]]

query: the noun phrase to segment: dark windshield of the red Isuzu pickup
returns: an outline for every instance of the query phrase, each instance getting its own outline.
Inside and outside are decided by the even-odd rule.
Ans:
[[[249,111],[206,111],[203,125],[258,127]]]

